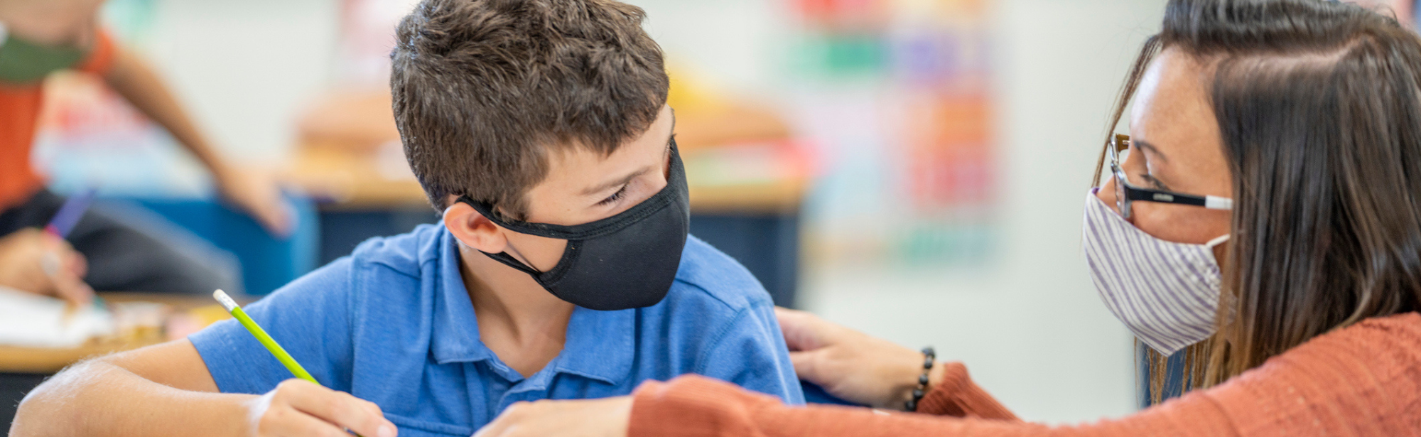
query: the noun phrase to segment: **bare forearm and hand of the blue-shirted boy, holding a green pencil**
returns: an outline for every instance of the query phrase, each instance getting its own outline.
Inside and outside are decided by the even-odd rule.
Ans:
[[[75,365],[20,403],[10,437],[328,436],[395,437],[374,403],[293,379],[257,394],[216,393],[188,341]]]

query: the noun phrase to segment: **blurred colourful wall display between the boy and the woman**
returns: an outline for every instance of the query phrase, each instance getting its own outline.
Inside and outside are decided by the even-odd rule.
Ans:
[[[786,72],[823,177],[811,260],[990,262],[998,152],[989,0],[784,0]]]

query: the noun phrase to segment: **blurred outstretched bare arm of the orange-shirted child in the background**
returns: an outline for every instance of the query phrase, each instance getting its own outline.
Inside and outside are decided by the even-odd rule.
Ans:
[[[104,72],[109,88],[122,95],[172,133],[206,166],[223,197],[257,218],[267,231],[286,236],[293,228],[293,213],[270,177],[229,165],[173,98],[168,85],[139,55],[114,44],[114,60]]]

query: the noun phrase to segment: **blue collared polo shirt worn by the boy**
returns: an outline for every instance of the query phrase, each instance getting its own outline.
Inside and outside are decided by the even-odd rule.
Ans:
[[[479,341],[443,226],[365,241],[246,311],[321,385],[379,404],[402,437],[468,437],[514,402],[628,394],[682,373],[804,402],[764,288],[696,237],[661,304],[574,309],[563,352],[529,377]],[[189,339],[223,393],[293,377],[234,321]]]

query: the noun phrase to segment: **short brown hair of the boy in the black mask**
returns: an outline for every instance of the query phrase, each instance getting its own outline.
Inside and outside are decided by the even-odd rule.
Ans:
[[[423,0],[389,88],[405,157],[438,210],[469,196],[522,220],[547,148],[611,155],[666,102],[645,13],[611,0]]]

